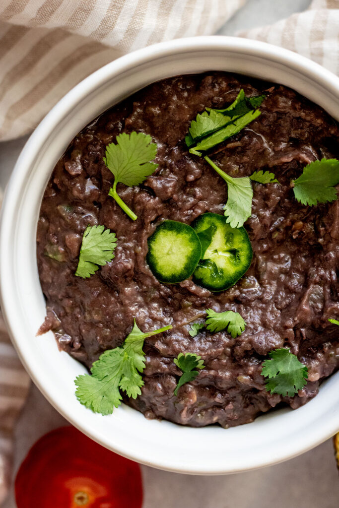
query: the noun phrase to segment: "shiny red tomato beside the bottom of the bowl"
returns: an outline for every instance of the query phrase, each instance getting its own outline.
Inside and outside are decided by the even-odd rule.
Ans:
[[[140,467],[60,427],[37,441],[15,479],[18,508],[141,508]]]

